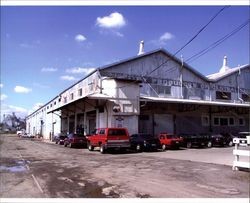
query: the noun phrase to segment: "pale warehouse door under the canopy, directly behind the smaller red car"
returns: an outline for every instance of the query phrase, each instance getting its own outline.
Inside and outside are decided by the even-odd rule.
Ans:
[[[171,114],[154,114],[154,134],[174,133],[174,121]]]

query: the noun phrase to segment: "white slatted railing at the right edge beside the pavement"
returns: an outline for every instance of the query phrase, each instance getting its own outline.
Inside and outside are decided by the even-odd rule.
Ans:
[[[234,138],[233,143],[235,144],[235,149],[233,150],[233,155],[235,156],[233,162],[233,170],[239,170],[239,168],[250,169],[250,150],[249,149],[239,149],[239,146],[248,147],[250,146],[250,136],[246,138]],[[247,160],[240,160],[240,156],[248,157]]]

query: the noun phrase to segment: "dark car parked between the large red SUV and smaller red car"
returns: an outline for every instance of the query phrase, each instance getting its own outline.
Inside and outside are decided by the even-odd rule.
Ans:
[[[130,136],[131,148],[136,151],[156,150],[160,148],[158,138],[145,133],[133,134]]]

